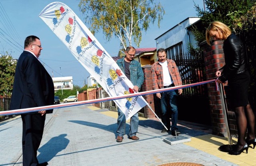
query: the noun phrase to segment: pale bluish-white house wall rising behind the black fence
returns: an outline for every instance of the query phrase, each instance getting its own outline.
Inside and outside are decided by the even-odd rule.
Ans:
[[[181,23],[177,24],[158,38],[156,38],[156,48],[170,48],[180,42],[182,42],[182,48],[184,52],[188,52],[187,44],[188,44],[188,34],[187,27],[198,21],[200,18],[187,18]],[[194,45],[196,42],[194,40],[194,34],[190,33],[190,41]]]

